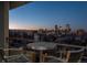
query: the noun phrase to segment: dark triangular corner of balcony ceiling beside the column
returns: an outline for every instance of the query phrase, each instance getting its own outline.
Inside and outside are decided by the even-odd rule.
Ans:
[[[30,2],[31,1],[10,1],[10,10]]]

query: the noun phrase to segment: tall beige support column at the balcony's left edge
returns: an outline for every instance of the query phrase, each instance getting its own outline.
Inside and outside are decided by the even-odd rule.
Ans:
[[[0,48],[8,48],[9,43],[6,39],[9,37],[9,2],[0,2]],[[7,52],[4,52],[8,55]]]

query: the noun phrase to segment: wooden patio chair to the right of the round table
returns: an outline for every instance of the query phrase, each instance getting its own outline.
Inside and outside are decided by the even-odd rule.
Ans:
[[[81,61],[83,52],[84,48],[80,48],[78,51],[67,51],[66,58],[50,56],[45,54],[43,55],[43,62],[44,63],[78,63]]]

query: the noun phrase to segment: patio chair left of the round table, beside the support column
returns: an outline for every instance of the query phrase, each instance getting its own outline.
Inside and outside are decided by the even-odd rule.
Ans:
[[[6,56],[4,52],[7,52],[7,51],[9,53],[12,53],[13,51],[15,51],[15,52],[18,52],[18,54],[14,53],[14,54],[10,54],[10,56]],[[23,54],[22,48],[4,48],[4,50],[2,50],[2,52],[0,54],[3,54],[1,62],[4,62],[4,63],[32,63],[33,62],[31,58],[32,55],[29,54],[29,56],[26,56],[25,54]]]

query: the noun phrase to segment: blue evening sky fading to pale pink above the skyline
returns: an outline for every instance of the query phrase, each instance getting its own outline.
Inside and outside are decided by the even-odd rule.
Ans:
[[[87,2],[35,1],[9,11],[9,29],[54,29],[70,24],[87,31]]]

